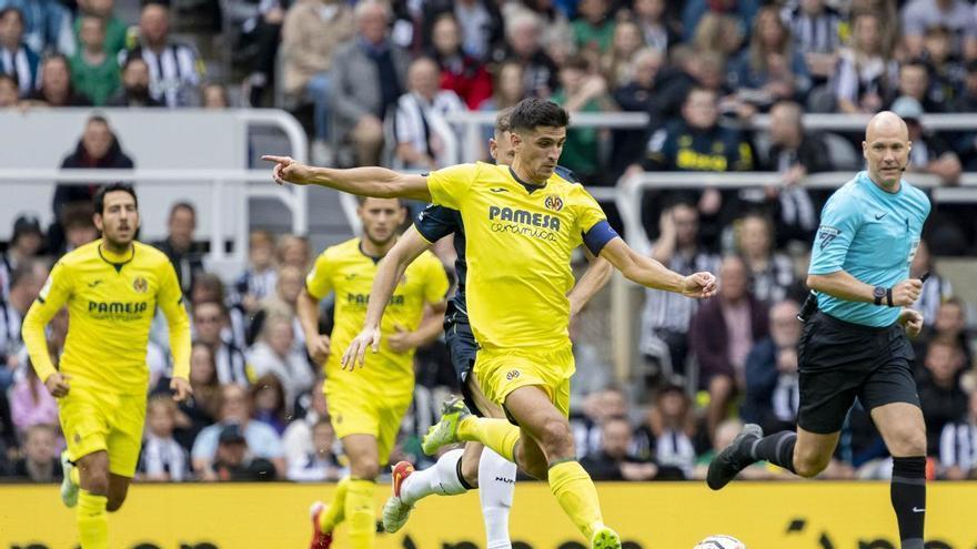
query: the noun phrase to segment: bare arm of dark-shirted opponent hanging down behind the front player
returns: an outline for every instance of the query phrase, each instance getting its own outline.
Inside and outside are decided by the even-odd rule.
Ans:
[[[343,353],[343,368],[352,368],[354,360],[363,366],[366,348],[372,348],[374,353],[380,350],[380,321],[383,318],[383,311],[390,303],[394,288],[396,288],[396,283],[404,275],[407,265],[430,247],[431,243],[425,241],[412,225],[380,261],[376,277],[373,278],[373,287],[370,288],[370,301],[366,305],[363,329]]]

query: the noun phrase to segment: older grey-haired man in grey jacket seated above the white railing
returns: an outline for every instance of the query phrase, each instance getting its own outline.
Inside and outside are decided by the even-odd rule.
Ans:
[[[330,87],[335,126],[330,133],[355,146],[357,165],[376,165],[383,148],[383,120],[404,89],[410,57],[387,35],[386,4],[356,4],[356,37],[333,55]]]

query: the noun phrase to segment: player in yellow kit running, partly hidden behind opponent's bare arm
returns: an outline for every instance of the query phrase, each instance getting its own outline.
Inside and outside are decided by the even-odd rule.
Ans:
[[[376,264],[396,242],[405,209],[396,199],[365,199],[357,209],[363,235],[326,248],[315,260],[299,297],[299,321],[309,354],[325,362],[325,403],[336,437],[350,459],[329,506],[312,506],[312,549],[326,549],[335,527],[346,520],[353,549],[370,549],[376,532],[374,479],[386,465],[401,419],[414,393],[414,349],[437,337],[444,319],[447,275],[433,254],[421,255],[390,296],[381,331],[384,345],[365,364],[344,369],[341,353],[366,316]],[[319,302],[335,294],[332,336],[319,334]],[[425,317],[425,309],[429,315]]]

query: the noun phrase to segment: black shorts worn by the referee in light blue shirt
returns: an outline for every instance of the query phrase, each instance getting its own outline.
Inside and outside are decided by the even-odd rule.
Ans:
[[[919,406],[911,370],[916,356],[898,323],[876,328],[819,311],[804,324],[797,358],[797,425],[804,430],[837,433],[855,397],[869,411],[892,403]]]

